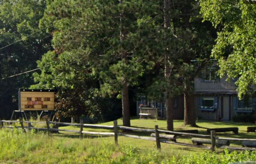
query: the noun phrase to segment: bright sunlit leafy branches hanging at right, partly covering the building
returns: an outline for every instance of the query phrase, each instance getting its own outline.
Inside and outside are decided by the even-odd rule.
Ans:
[[[235,79],[240,98],[254,94],[255,84],[255,28],[256,7],[243,1],[203,0],[200,3],[204,20],[209,20],[218,29],[218,38],[213,47],[214,56],[220,65],[220,76]]]

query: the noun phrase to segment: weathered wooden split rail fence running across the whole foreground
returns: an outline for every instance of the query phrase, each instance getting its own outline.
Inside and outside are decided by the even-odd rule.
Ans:
[[[48,135],[51,135],[52,131],[80,133],[80,139],[83,139],[83,134],[100,135],[100,136],[114,136],[116,145],[118,144],[118,136],[125,136],[125,137],[136,138],[136,139],[146,139],[146,140],[156,141],[156,147],[158,149],[161,149],[161,142],[162,142],[162,143],[175,144],[175,145],[181,145],[181,146],[204,148],[204,149],[209,149],[212,151],[215,151],[215,147],[236,149],[236,150],[256,150],[256,139],[217,137],[215,131],[211,131],[211,135],[203,135],[203,134],[195,134],[195,133],[187,133],[187,132],[161,130],[158,128],[158,125],[155,125],[155,129],[127,127],[127,126],[117,125],[117,121],[114,121],[114,125],[93,125],[93,124],[84,124],[83,120],[80,120],[80,124],[75,124],[75,123],[52,122],[52,121],[29,122],[29,121],[22,121],[22,119],[20,119],[19,121],[0,120],[0,128],[1,129],[2,128],[14,128],[13,126],[10,126],[10,125],[6,126],[3,123],[8,123],[8,124],[20,123],[20,126],[16,126],[15,128],[23,129],[24,132],[25,132],[25,129],[28,129],[28,130],[36,129],[36,130],[45,130],[48,132]],[[24,123],[27,123],[27,126],[24,126],[23,125]],[[32,123],[46,124],[47,128],[33,127],[31,125]],[[51,128],[50,124],[78,126],[78,127],[80,127],[80,130],[65,130],[65,129]],[[84,127],[112,129],[112,130],[114,130],[114,132],[88,132],[88,131],[84,131]],[[151,136],[148,137],[148,136],[138,136],[138,135],[126,134],[124,132],[120,133],[120,132],[118,132],[118,130],[130,130],[130,131],[152,132],[152,133],[151,133]],[[167,133],[167,134],[160,134],[160,133]],[[177,137],[180,135],[197,137],[197,138],[192,138],[192,142],[194,144],[176,142]],[[242,145],[248,146],[248,147],[229,146],[229,141],[242,141]],[[204,146],[202,144],[211,144],[211,146]]]

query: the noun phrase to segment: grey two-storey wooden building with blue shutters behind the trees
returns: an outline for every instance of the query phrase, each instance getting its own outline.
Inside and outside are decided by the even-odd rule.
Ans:
[[[214,70],[215,71],[215,70]],[[216,71],[215,71],[216,72]],[[227,76],[218,78],[218,76],[208,68],[203,78],[196,78],[194,82],[194,111],[199,119],[229,121],[235,115],[252,114],[256,118],[255,98],[239,100],[237,97],[235,80],[226,81]],[[140,105],[150,108],[157,108],[157,117],[166,118],[166,108],[164,101],[148,101],[142,98],[137,101],[137,114],[139,115]],[[184,98],[183,95],[175,98],[174,101],[174,119],[184,118]]]

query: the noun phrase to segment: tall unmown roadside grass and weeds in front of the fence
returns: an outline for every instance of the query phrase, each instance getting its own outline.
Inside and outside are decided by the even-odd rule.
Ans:
[[[73,136],[74,137],[74,136]],[[0,131],[0,162],[4,163],[223,163],[256,160],[256,152],[173,155],[156,148],[121,143],[119,146],[100,138],[70,138],[62,134],[48,136],[44,132],[24,133],[14,128]]]

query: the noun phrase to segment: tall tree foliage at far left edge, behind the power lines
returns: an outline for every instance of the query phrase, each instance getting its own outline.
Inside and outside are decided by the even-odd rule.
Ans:
[[[45,7],[44,0],[1,1],[0,79],[35,69],[36,61],[51,49],[51,35],[38,27]],[[31,75],[28,73],[0,81],[1,118],[9,119],[13,109],[17,109],[18,89],[28,88],[34,83]]]

